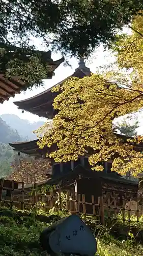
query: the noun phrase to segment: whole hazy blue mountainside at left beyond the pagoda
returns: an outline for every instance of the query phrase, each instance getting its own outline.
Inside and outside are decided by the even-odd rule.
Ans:
[[[0,116],[0,178],[12,172],[11,163],[17,157],[17,153],[8,143],[36,139],[33,131],[43,124],[40,121],[30,123],[13,114]],[[21,156],[24,157],[23,154]]]

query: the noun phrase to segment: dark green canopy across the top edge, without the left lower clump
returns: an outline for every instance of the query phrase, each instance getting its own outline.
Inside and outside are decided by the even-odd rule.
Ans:
[[[41,37],[54,50],[88,56],[142,7],[141,0],[1,0],[0,42],[27,48],[31,36]]]

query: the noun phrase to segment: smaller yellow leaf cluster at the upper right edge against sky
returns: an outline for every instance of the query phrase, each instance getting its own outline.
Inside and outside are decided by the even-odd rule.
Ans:
[[[113,44],[113,51],[117,57],[118,65],[130,72],[130,77],[138,84],[142,84],[143,70],[143,12],[139,12],[133,17],[130,27],[131,34],[121,34],[117,36],[116,43]]]

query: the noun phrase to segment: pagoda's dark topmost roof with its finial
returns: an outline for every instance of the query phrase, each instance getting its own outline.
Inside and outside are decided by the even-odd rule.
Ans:
[[[71,76],[55,84],[53,87],[57,86],[58,84],[62,84],[70,77],[82,78],[84,76],[89,76],[90,74],[90,69],[85,67],[84,60],[81,58],[79,62],[79,67],[75,70],[75,72]],[[57,92],[51,92],[53,87],[47,89],[42,93],[37,94],[34,97],[25,100],[15,101],[14,104],[17,105],[20,110],[28,111],[30,113],[38,115],[39,117],[52,119],[56,113],[53,110],[52,103],[53,99],[56,97],[56,95],[58,95]]]

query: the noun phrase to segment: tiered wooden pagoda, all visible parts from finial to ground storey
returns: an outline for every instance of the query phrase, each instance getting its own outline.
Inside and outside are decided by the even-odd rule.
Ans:
[[[70,77],[78,77],[82,78],[84,76],[90,76],[91,71],[89,68],[85,66],[84,60],[80,59],[79,67],[75,70],[75,72],[69,76]],[[66,78],[66,79],[68,79]],[[65,79],[65,80],[66,80]],[[65,80],[59,82],[58,84],[62,84]],[[55,84],[56,86],[57,84]],[[55,87],[54,86],[54,87]],[[53,87],[52,87],[53,88]],[[52,88],[25,100],[14,102],[15,105],[22,111],[27,111],[32,114],[38,115],[39,117],[45,117],[48,119],[52,119],[56,112],[53,109],[52,103],[53,99],[58,94],[57,92],[52,92]],[[122,137],[123,143],[127,141],[126,136],[122,136],[117,134],[118,137]],[[46,156],[47,150],[49,148],[43,148],[42,150],[37,145],[38,139],[28,142],[15,142],[9,143],[10,146],[14,148],[14,151],[21,152],[27,154],[28,156],[33,156],[35,158],[44,158]],[[143,144],[135,144],[134,149],[137,151],[143,150]],[[116,173],[111,173],[111,165],[112,162],[107,161],[103,163],[104,172],[100,176],[102,176],[102,187],[107,189],[127,192],[131,194],[137,193],[137,181],[131,181],[120,177]],[[78,167],[79,166],[79,167]],[[84,174],[83,174],[84,173]],[[73,184],[73,179],[76,176],[83,175],[84,177],[92,177],[96,172],[91,171],[91,166],[89,165],[88,156],[79,157],[78,161],[70,161],[67,163],[55,163],[52,161],[52,175],[47,174],[48,180],[45,181],[48,184],[56,184],[60,180],[66,180],[66,186],[71,186]],[[74,175],[74,178],[72,177]],[[71,177],[71,178],[70,178]],[[127,178],[127,177],[126,177]],[[69,181],[70,180],[70,181]],[[65,184],[65,183],[64,183]],[[63,185],[64,186],[64,185]]]

